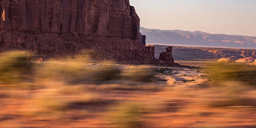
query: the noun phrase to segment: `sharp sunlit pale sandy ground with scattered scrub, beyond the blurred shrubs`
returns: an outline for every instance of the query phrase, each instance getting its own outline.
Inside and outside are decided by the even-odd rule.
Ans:
[[[195,62],[197,63],[197,62]],[[203,62],[201,62],[203,63]],[[97,65],[97,64],[91,64]],[[211,79],[205,77],[204,70],[199,68],[180,68],[180,67],[161,67],[161,66],[143,66],[143,65],[120,65],[118,68],[147,68],[154,70],[155,82],[159,87],[198,87],[201,84],[211,85]],[[202,64],[200,64],[202,66]]]

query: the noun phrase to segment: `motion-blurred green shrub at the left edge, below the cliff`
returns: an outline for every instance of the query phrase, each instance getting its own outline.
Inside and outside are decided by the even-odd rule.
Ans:
[[[0,82],[13,84],[33,80],[33,63],[28,52],[6,52],[0,56]]]

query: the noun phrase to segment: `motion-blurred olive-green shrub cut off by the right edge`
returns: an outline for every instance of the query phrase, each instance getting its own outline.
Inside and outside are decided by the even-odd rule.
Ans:
[[[220,82],[241,81],[248,85],[256,85],[256,67],[240,63],[215,63],[208,70],[211,78]]]

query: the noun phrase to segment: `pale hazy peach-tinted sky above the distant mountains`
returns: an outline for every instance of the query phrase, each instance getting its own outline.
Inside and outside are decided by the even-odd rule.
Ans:
[[[145,28],[256,36],[256,0],[130,0]]]

